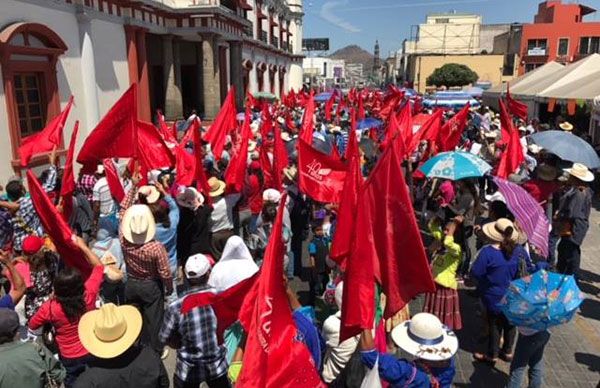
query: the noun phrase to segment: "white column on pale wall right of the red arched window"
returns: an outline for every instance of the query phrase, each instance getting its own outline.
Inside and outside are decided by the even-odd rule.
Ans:
[[[100,120],[98,111],[98,89],[96,85],[96,64],[94,61],[94,42],[92,40],[91,18],[84,12],[77,13],[79,45],[81,51],[81,79],[83,83],[83,101],[85,107],[85,126],[92,130]]]

